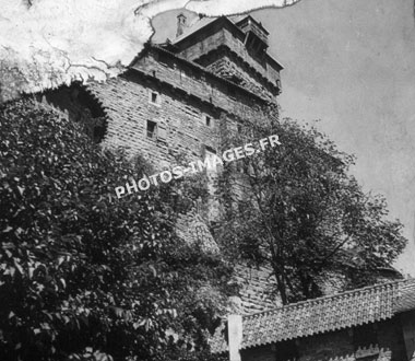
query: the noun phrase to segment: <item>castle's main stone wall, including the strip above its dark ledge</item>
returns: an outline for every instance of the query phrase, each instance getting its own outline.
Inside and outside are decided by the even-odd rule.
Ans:
[[[134,66],[137,70],[123,77],[88,85],[110,119],[107,144],[126,147],[131,153],[142,152],[161,166],[171,164],[174,152],[200,159],[203,149],[218,148],[221,114],[225,114],[236,131],[236,123],[244,124],[246,117],[258,116],[253,106],[264,104],[237,89],[230,90],[230,96],[226,83],[206,82],[200,72],[179,68],[174,58],[158,60],[149,56]],[[151,102],[152,93],[157,94],[156,104]],[[147,120],[163,128],[162,138],[146,137]]]

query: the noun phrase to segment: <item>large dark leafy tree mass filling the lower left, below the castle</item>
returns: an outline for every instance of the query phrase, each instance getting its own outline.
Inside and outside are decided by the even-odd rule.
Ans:
[[[31,100],[0,112],[0,359],[208,360],[229,269],[176,236],[186,182],[119,200],[144,160]]]

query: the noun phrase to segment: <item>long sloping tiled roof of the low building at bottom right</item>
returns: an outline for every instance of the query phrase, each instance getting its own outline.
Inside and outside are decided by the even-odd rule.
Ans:
[[[376,284],[242,317],[241,349],[359,326],[415,310],[415,279]],[[218,330],[213,352],[227,350]]]

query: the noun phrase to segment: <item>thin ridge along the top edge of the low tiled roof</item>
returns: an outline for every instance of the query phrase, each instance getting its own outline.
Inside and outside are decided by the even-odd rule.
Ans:
[[[359,288],[359,289],[348,290],[348,291],[344,291],[344,292],[335,293],[335,294],[330,294],[330,295],[323,295],[323,296],[317,298],[317,299],[310,299],[310,300],[299,301],[299,302],[286,304],[286,305],[283,305],[283,306],[280,306],[280,307],[275,307],[275,308],[272,308],[272,310],[257,312],[257,313],[253,313],[253,314],[250,314],[250,315],[246,315],[246,316],[244,316],[244,318],[253,318],[253,317],[259,316],[259,315],[272,314],[272,313],[274,313],[276,311],[281,311],[281,310],[295,308],[297,306],[301,306],[301,305],[305,305],[305,304],[318,303],[318,302],[325,301],[325,300],[329,300],[329,299],[333,300],[333,299],[336,299],[336,298],[342,298],[344,295],[349,295],[349,294],[359,293],[359,292],[366,292],[368,290],[374,290],[374,289],[381,289],[381,288],[387,288],[387,287],[399,286],[400,283],[401,284],[404,284],[404,283],[415,283],[415,279],[410,278],[410,279],[396,280],[396,281],[392,281],[392,282],[383,282],[383,283],[370,284],[370,286],[366,286],[366,287],[363,287],[363,288]]]

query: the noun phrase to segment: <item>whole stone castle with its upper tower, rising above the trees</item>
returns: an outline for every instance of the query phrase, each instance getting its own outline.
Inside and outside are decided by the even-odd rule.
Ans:
[[[46,101],[88,121],[97,142],[140,153],[155,167],[175,165],[177,154],[204,159],[218,151],[221,123],[237,132],[256,108],[276,109],[283,67],[266,51],[268,35],[250,15],[201,18],[188,26],[179,14],[177,37],[149,44],[122,75],[46,92]],[[208,176],[214,184],[215,172]],[[179,235],[214,247],[212,218],[183,214]]]

